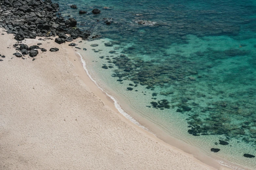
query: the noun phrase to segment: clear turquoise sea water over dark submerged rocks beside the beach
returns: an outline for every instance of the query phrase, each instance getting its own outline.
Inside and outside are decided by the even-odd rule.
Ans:
[[[242,160],[238,164],[256,169],[255,158],[243,157],[256,155],[255,2],[64,0],[59,4],[62,16],[70,15],[80,28],[102,36],[88,42],[99,46],[83,52],[91,54],[92,74],[119,97],[121,106],[129,105],[174,136],[171,129],[176,129],[183,141],[202,142],[210,156],[219,154],[233,163]],[[101,14],[90,13],[93,8]],[[88,13],[79,15],[78,10]],[[229,144],[220,145],[219,140]],[[211,148],[221,151],[213,153]]]

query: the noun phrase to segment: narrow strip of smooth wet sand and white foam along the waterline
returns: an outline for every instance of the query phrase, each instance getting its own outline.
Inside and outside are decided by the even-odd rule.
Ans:
[[[74,43],[76,43],[78,40],[76,40]],[[65,45],[67,48],[67,45]],[[128,113],[126,113],[122,107],[118,104],[118,101],[113,100],[112,98],[114,98],[113,96],[111,96],[111,94],[108,94],[107,92],[104,91],[104,89],[102,89],[97,83],[96,81],[91,77],[91,75],[89,74],[87,68],[86,67],[86,61],[82,61],[82,56],[79,52],[76,52],[77,50],[74,50],[73,55],[75,55],[77,57],[77,59],[79,60],[80,64],[71,62],[77,66],[77,73],[79,74],[80,78],[82,77],[83,82],[90,87],[90,89],[94,92],[94,94],[96,94],[102,101],[105,101],[106,104],[108,106],[110,106],[110,108],[112,110],[114,110],[117,114],[119,114],[119,116],[122,117],[123,120],[126,120],[127,123],[129,123],[130,125],[134,126],[136,129],[138,129],[140,132],[143,132],[144,134],[154,138],[155,140],[158,140],[158,142],[161,142],[162,144],[171,147],[172,149],[181,151],[182,153],[185,153],[186,155],[192,156],[194,159],[196,159],[197,161],[206,164],[210,167],[213,167],[214,169],[219,169],[219,170],[232,170],[232,168],[220,164],[219,162],[217,162],[216,159],[211,158],[205,154],[203,154],[201,151],[199,151],[196,147],[191,146],[189,144],[186,144],[185,142],[176,139],[175,137],[172,137],[170,135],[168,135],[168,137],[164,138],[163,135],[166,134],[165,132],[162,131],[162,129],[160,129],[159,127],[157,127],[156,125],[154,125],[152,122],[149,123],[150,127],[149,129],[152,129],[152,127],[156,128],[157,130],[155,130],[154,132],[161,132],[160,134],[161,137],[163,138],[159,138],[157,135],[155,135],[153,132],[151,132],[147,126],[144,126],[143,124],[141,124],[140,122],[143,122],[145,124],[145,121],[149,122],[150,120],[146,120],[145,118],[140,117],[139,120],[137,120],[136,118],[133,118],[131,115],[129,115]],[[81,60],[82,59],[82,60]],[[80,68],[79,68],[80,67]],[[85,76],[83,76],[83,72],[85,74]],[[91,82],[88,82],[91,81]],[[107,100],[107,101],[106,101]],[[119,111],[119,109],[116,106],[119,106],[122,110],[122,112],[124,112],[125,114],[121,113]],[[143,121],[141,121],[143,119]],[[148,123],[147,123],[148,125]],[[159,135],[159,133],[158,133]],[[166,134],[167,135],[167,134]],[[170,140],[171,139],[171,140]],[[181,142],[181,143],[180,143]],[[192,148],[193,149],[192,149]],[[182,149],[181,149],[182,148]],[[196,155],[193,155],[193,153],[199,152]],[[200,155],[203,154],[203,155]],[[196,156],[196,157],[195,157]],[[245,168],[244,170],[247,170],[247,168]]]

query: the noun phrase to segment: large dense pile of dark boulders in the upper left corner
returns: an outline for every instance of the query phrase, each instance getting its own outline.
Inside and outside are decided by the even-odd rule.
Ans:
[[[70,34],[67,41],[78,37],[87,39],[89,31],[72,29],[76,27],[74,18],[65,20],[57,16],[59,4],[51,0],[0,0],[0,27],[15,39],[22,41],[25,38],[35,39],[37,36],[56,36],[60,33]]]

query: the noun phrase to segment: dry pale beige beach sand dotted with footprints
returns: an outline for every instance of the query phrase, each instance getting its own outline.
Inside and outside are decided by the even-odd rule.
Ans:
[[[88,78],[69,43],[27,39],[28,46],[40,42],[47,51],[23,60],[12,55],[14,36],[2,33],[1,170],[214,169],[124,118]]]

